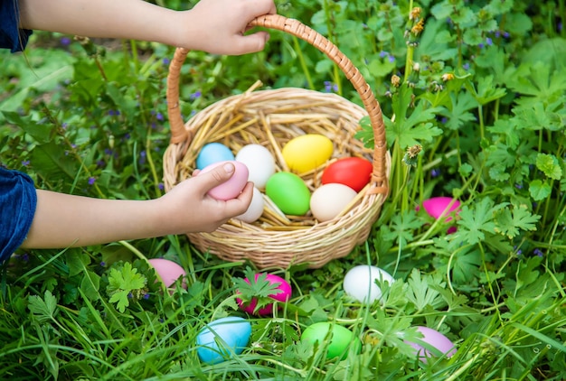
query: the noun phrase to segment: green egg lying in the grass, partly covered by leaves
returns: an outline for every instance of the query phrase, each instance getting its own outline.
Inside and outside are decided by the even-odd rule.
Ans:
[[[332,330],[332,334],[328,337],[328,332]],[[327,340],[330,339],[330,343]],[[319,346],[325,346],[327,349],[326,358],[344,359],[348,354],[348,346],[350,344],[355,346],[357,353],[362,349],[362,342],[360,339],[354,337],[354,333],[341,325],[332,324],[329,322],[319,322],[307,327],[301,335],[301,341],[307,341]]]

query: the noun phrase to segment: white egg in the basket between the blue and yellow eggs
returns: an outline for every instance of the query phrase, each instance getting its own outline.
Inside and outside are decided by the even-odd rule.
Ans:
[[[275,173],[275,159],[269,150],[260,144],[248,144],[236,153],[236,161],[246,164],[249,181],[259,190],[265,188],[269,177]]]

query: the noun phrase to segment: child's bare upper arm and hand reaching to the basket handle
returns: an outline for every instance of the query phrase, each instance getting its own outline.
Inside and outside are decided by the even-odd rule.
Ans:
[[[161,42],[218,54],[262,50],[268,33],[243,33],[255,17],[275,13],[273,0],[202,0],[189,11],[143,0],[20,0],[24,29]]]

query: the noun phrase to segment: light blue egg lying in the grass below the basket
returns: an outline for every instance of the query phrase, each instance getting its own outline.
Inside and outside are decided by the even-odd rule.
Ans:
[[[240,355],[251,336],[251,324],[243,318],[229,316],[207,324],[196,337],[196,352],[207,364],[217,364]]]

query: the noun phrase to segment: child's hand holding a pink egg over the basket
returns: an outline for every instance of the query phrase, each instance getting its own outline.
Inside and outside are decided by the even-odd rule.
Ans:
[[[228,181],[234,167],[229,171],[217,167],[211,172],[193,176],[180,182],[174,189],[157,200],[163,223],[169,225],[170,234],[211,232],[230,218],[244,213],[250,206],[253,184],[248,182],[237,199],[215,200],[207,194],[212,188]]]

